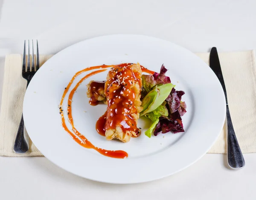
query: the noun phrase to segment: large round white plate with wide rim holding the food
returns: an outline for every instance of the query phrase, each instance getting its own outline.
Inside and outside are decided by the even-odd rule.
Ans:
[[[58,105],[64,88],[77,71],[124,62],[140,62],[156,72],[164,63],[169,69],[166,75],[175,88],[186,93],[182,100],[187,104],[187,113],[182,117],[183,133],[169,132],[148,138],[143,133],[149,123],[139,119],[138,126],[142,127],[139,138],[131,138],[128,143],[106,141],[95,129],[106,105],[91,106],[86,85],[90,80],[105,80],[107,72],[86,79],[73,97],[74,124],[95,146],[128,152],[127,159],[116,159],[73,141],[61,126]],[[85,75],[79,75],[76,82]],[[64,108],[66,106],[67,99],[64,99]],[[64,49],[38,70],[26,90],[23,103],[26,130],[46,158],[68,172],[106,183],[141,183],[186,168],[214,144],[223,127],[225,112],[221,84],[207,64],[185,48],[140,35],[96,37]]]

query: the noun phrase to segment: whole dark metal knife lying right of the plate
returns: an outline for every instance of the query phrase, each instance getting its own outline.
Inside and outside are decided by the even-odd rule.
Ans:
[[[221,82],[221,86],[224,90],[226,98],[227,115],[225,124],[227,134],[227,162],[232,169],[241,169],[245,165],[244,156],[236,139],[235,130],[231,121],[230,111],[227,103],[227,91],[222,76],[221,64],[218,58],[218,52],[216,47],[213,47],[210,52],[210,68],[214,71],[219,81]]]

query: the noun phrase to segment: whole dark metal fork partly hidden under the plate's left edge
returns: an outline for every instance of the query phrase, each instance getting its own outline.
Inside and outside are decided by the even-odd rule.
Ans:
[[[31,62],[31,65],[30,65]],[[23,58],[22,58],[22,77],[27,80],[27,87],[29,82],[35,75],[36,71],[39,69],[39,52],[38,52],[38,41],[36,40],[36,65],[35,65],[35,55],[34,55],[34,42],[32,40],[32,59],[30,59],[30,45],[28,40],[28,56],[26,65],[26,40],[24,41]],[[24,134],[24,121],[23,115],[21,116],[20,126],[17,131],[15,143],[13,150],[18,154],[26,153],[29,150],[29,137]]]

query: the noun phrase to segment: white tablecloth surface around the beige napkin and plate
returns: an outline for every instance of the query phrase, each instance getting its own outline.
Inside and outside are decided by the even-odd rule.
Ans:
[[[255,0],[0,0],[0,93],[4,57],[21,54],[24,39],[38,39],[41,54],[119,33],[159,37],[193,52],[250,50],[255,8]],[[226,155],[207,154],[161,180],[113,185],[77,177],[44,157],[0,157],[0,199],[254,200],[256,153],[244,159],[244,169],[234,171]]]

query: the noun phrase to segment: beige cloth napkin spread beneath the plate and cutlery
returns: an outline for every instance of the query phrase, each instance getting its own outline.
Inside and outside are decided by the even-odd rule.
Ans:
[[[209,53],[197,54],[209,64]],[[40,56],[40,66],[52,55]],[[219,53],[227,88],[230,114],[243,153],[256,152],[256,63],[254,51]],[[0,155],[38,156],[41,152],[30,141],[29,152],[18,155],[13,144],[22,113],[26,81],[21,76],[21,55],[6,56],[0,111]],[[226,153],[222,130],[208,153]]]

